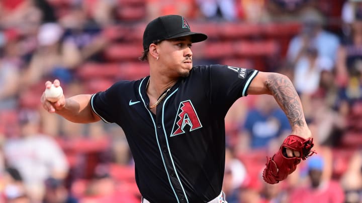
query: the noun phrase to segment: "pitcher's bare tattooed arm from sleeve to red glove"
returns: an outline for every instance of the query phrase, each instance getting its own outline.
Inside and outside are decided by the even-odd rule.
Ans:
[[[301,100],[287,76],[279,73],[259,72],[251,82],[247,93],[273,95],[288,117],[292,127],[291,134],[305,139],[312,136],[304,118]],[[291,153],[288,151],[289,157],[293,156]]]

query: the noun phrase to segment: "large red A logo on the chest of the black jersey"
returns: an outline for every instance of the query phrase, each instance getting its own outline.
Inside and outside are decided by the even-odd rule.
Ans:
[[[185,130],[191,132],[199,128],[202,128],[202,125],[191,100],[181,102],[173,123],[171,137],[183,134]]]

